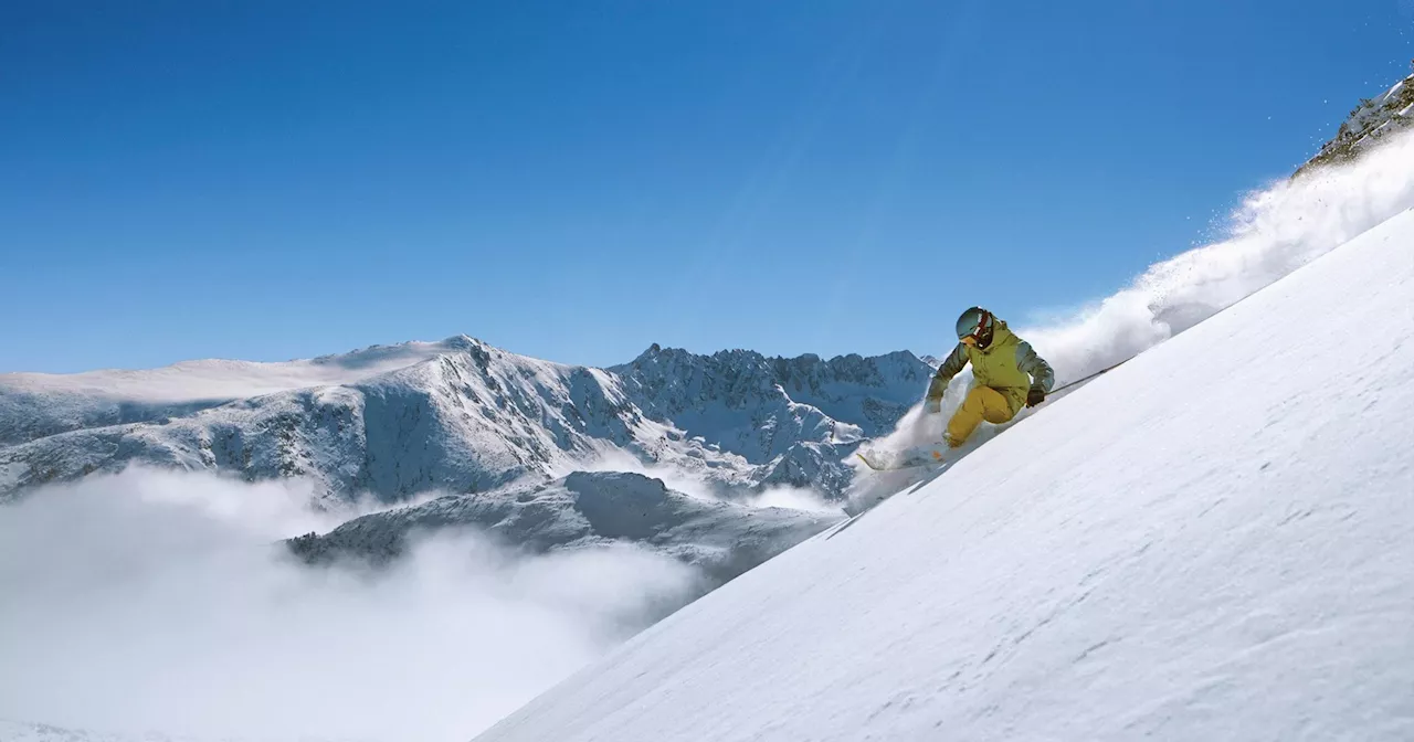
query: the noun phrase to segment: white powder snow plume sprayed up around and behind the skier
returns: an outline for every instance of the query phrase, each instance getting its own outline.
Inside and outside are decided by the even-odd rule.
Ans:
[[[1411,208],[1414,131],[1389,137],[1355,163],[1315,168],[1254,191],[1229,216],[1223,239],[1155,263],[1128,287],[1073,317],[1041,326],[1014,322],[1012,328],[1051,362],[1060,386],[1164,342]],[[915,407],[870,448],[906,451],[939,441],[969,379],[963,372],[953,380],[940,416]],[[984,425],[966,449],[997,431]],[[894,485],[860,486],[875,492]]]

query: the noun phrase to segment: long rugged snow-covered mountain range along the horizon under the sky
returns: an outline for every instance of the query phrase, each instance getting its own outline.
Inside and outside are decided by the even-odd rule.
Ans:
[[[604,458],[721,490],[839,495],[841,459],[926,386],[911,353],[713,356],[650,348],[566,366],[468,336],[287,363],[0,376],[0,499],[130,464],[312,479],[385,502],[544,482]]]

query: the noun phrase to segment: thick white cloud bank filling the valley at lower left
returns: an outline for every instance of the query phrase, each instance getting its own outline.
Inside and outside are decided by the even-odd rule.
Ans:
[[[465,741],[684,599],[633,548],[513,555],[474,533],[385,574],[273,541],[298,490],[132,471],[0,509],[0,717],[243,739]]]

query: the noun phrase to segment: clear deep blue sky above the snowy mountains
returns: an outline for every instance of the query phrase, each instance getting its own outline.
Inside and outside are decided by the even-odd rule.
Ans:
[[[0,4],[0,372],[942,352],[1202,240],[1414,0]]]

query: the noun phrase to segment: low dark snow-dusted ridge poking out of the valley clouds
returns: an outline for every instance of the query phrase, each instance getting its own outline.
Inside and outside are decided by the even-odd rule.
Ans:
[[[382,561],[402,555],[414,533],[455,527],[485,530],[527,551],[633,541],[700,567],[715,587],[841,517],[696,499],[638,473],[575,472],[544,485],[368,514],[290,544],[310,561],[342,554]]]

